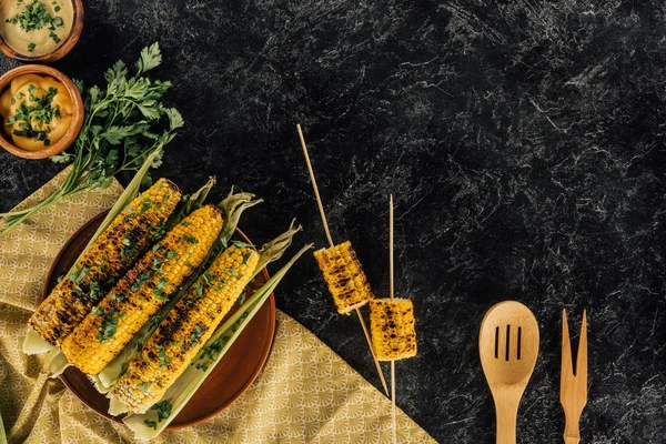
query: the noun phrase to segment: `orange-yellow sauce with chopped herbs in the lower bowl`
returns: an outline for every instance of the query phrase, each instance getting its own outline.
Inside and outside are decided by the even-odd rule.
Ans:
[[[19,75],[0,95],[4,131],[23,150],[41,150],[62,139],[72,112],[67,88],[52,77]]]

